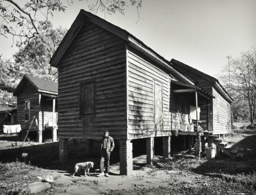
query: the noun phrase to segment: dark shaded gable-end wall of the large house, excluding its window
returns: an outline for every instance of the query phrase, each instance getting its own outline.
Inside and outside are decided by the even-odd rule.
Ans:
[[[127,137],[126,42],[86,21],[58,64],[58,136]],[[95,83],[95,115],[80,116],[80,84]]]

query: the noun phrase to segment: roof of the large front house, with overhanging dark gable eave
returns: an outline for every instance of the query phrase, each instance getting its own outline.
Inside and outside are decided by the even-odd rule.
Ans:
[[[158,65],[165,68],[173,76],[175,76],[178,80],[180,80],[184,83],[194,85],[194,83],[191,79],[187,78],[182,73],[180,73],[175,68],[173,68],[168,60],[166,60],[164,57],[162,57],[161,55],[156,53],[150,47],[146,46],[146,44],[144,44],[142,41],[137,39],[134,35],[128,33],[128,31],[126,31],[116,25],[111,24],[110,22],[102,19],[101,17],[95,16],[95,15],[91,14],[90,12],[87,12],[83,9],[80,10],[78,16],[74,20],[70,29],[65,34],[62,42],[58,46],[54,55],[52,56],[52,58],[50,60],[51,66],[53,66],[53,67],[58,66],[58,63],[61,60],[61,58],[63,57],[65,51],[68,49],[70,44],[73,42],[73,39],[78,34],[78,32],[80,31],[80,29],[82,28],[82,26],[86,20],[89,20],[92,23],[99,25],[100,27],[104,28],[105,30],[111,32],[112,34],[119,36],[121,39],[123,39],[127,42],[129,47],[135,49],[136,51],[141,52],[147,58],[149,58],[153,61],[156,61]]]

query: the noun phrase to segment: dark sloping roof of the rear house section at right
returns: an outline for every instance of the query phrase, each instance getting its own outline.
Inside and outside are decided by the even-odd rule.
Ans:
[[[183,71],[185,73],[185,76],[187,77],[191,77],[192,80],[194,80],[195,82],[198,82],[197,79],[193,76],[193,74],[196,74],[198,76],[201,76],[203,79],[209,81],[214,87],[217,88],[217,90],[225,97],[225,99],[228,102],[233,102],[233,99],[231,98],[231,96],[229,95],[229,93],[225,90],[225,88],[219,83],[219,80],[217,78],[214,78],[213,76],[207,75],[203,72],[201,72],[200,70],[196,69],[196,68],[192,68],[189,65],[186,65],[176,59],[172,59],[170,61],[172,63],[172,65],[177,68],[179,71]]]

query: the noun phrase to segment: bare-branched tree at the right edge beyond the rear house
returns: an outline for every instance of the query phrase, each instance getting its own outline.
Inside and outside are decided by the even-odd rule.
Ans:
[[[239,103],[247,102],[250,122],[253,124],[256,117],[256,49],[242,52],[240,58],[231,60],[230,68],[225,67],[223,70],[221,81],[230,87],[238,102],[242,100]]]

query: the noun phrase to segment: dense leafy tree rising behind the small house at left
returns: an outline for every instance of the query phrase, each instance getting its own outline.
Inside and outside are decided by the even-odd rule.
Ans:
[[[49,27],[38,28],[39,35],[29,43],[18,42],[18,52],[13,55],[15,64],[11,72],[16,72],[17,77],[24,74],[45,78],[51,81],[57,80],[57,69],[50,66],[49,61],[62,41],[66,29],[61,27],[53,29]]]

